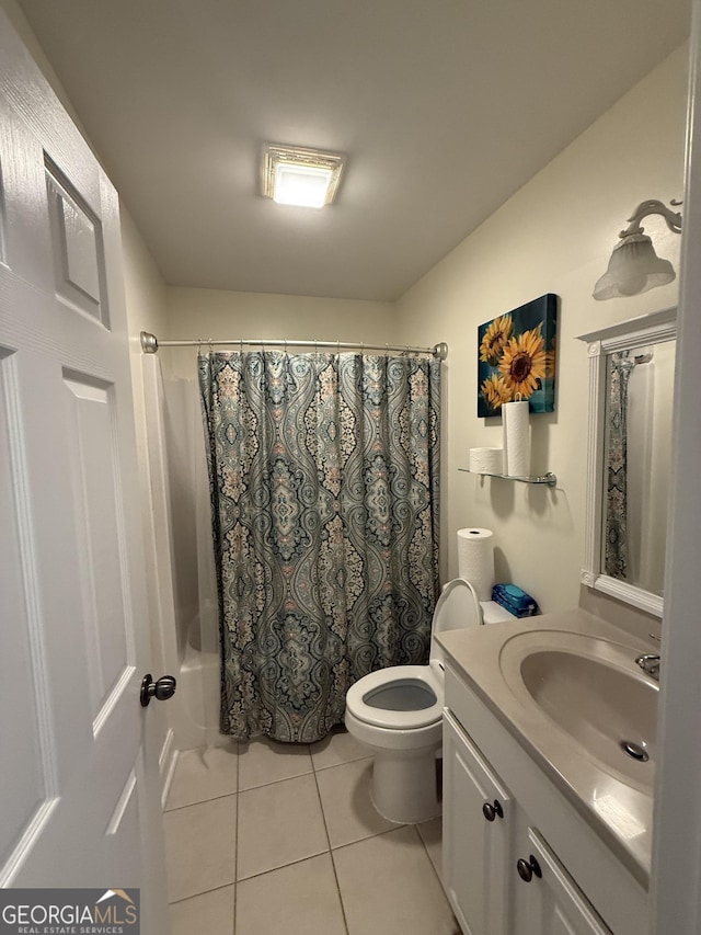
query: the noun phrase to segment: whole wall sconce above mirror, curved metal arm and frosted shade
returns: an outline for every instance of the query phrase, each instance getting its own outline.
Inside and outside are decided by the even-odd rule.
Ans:
[[[681,202],[670,202],[675,207]],[[640,226],[651,214],[658,214],[667,221],[669,230],[681,233],[681,215],[670,212],[662,202],[643,202],[630,217],[629,226],[619,233],[621,242],[613,248],[609,267],[594,287],[593,296],[599,301],[617,296],[635,296],[664,286],[676,278],[675,267],[669,260],[660,260],[650,237]]]

